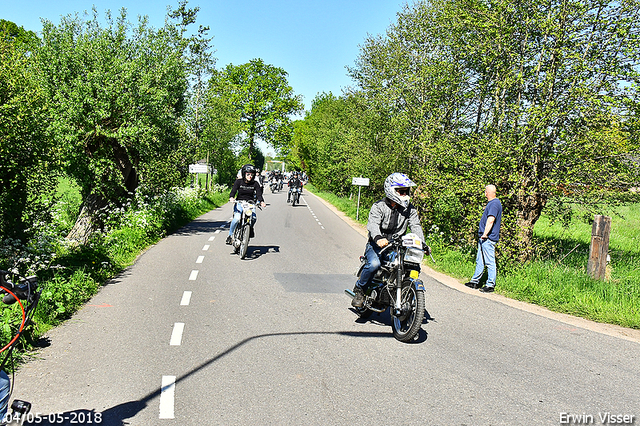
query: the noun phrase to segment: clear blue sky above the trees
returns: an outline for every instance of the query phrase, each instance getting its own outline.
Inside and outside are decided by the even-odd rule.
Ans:
[[[190,0],[200,7],[198,24],[214,36],[216,68],[262,58],[289,73],[289,84],[304,96],[305,107],[317,93],[340,95],[352,84],[345,66],[357,58],[367,34],[382,34],[396,21],[405,0]],[[177,0],[2,0],[0,18],[40,31],[40,18],[59,23],[70,13],[95,5],[100,16],[127,9],[129,20],[148,15],[154,27],[164,24],[167,6]]]

